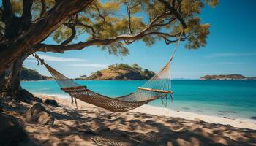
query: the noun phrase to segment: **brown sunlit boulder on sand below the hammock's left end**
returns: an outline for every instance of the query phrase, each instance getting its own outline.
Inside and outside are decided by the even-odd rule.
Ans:
[[[34,104],[25,115],[28,122],[40,123],[43,125],[53,124],[54,118],[49,114],[49,112],[42,106],[42,104]]]

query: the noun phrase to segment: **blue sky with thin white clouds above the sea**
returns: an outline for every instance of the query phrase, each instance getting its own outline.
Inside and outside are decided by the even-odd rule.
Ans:
[[[178,48],[172,64],[173,78],[199,78],[206,74],[243,74],[256,76],[256,1],[219,1],[211,9],[203,9],[203,23],[210,23],[211,34],[206,47],[187,50],[184,42]],[[50,43],[51,40],[46,40]],[[97,47],[59,53],[38,53],[50,66],[67,77],[79,77],[104,69],[110,64],[137,63],[143,68],[157,72],[170,58],[174,45],[166,46],[159,41],[152,47],[142,42],[127,46],[129,55],[120,58],[109,55]],[[27,58],[24,66],[50,75],[44,66],[37,66],[33,58]]]

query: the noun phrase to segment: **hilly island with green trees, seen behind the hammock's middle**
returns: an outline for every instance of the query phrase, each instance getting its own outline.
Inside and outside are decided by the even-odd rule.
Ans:
[[[107,69],[92,73],[89,77],[82,75],[75,80],[148,80],[154,74],[153,71],[142,69],[138,64],[113,64]]]

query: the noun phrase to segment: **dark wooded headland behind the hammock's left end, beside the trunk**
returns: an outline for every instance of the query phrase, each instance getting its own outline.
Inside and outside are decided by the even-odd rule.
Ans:
[[[52,77],[39,74],[36,70],[27,69],[23,67],[21,69],[21,80],[53,80]]]

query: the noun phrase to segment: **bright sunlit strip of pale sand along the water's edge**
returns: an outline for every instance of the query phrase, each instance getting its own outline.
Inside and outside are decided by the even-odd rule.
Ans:
[[[34,93],[35,96],[48,96],[53,99],[60,99],[64,100],[65,102],[70,102],[69,99],[67,99],[68,96],[63,96],[59,94],[43,94],[43,93]],[[79,100],[78,100],[79,101]],[[78,105],[81,104],[78,102]],[[87,103],[86,103],[87,104]],[[89,104],[92,107],[95,107],[94,105]],[[74,107],[75,108],[75,107]],[[148,115],[158,115],[158,116],[165,116],[168,118],[184,118],[186,120],[198,120],[198,121],[204,121],[207,123],[215,123],[215,124],[222,124],[222,125],[230,125],[236,128],[249,128],[256,130],[256,120],[252,119],[246,119],[246,118],[228,118],[228,117],[218,117],[216,115],[204,115],[199,114],[195,112],[186,112],[186,111],[176,111],[171,110],[169,108],[165,107],[155,107],[152,105],[143,105],[141,107],[138,107],[134,110],[130,110],[129,112],[138,112]]]

